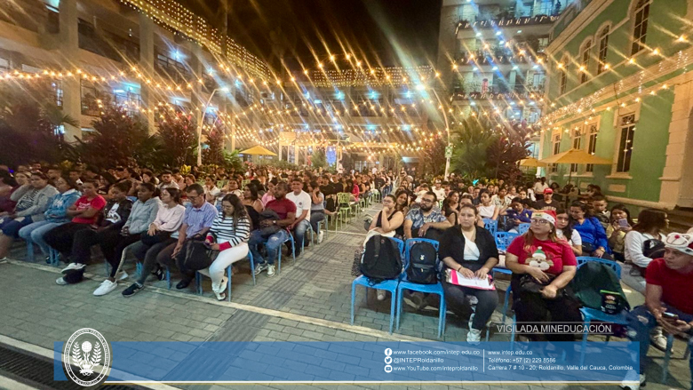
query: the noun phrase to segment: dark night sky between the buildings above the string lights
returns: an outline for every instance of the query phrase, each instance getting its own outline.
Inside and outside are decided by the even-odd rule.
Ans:
[[[179,0],[219,26],[219,0]],[[329,62],[351,48],[371,66],[426,65],[437,52],[442,0],[229,0],[228,32],[279,68]],[[341,43],[341,45],[340,45]],[[348,49],[346,49],[348,50]]]

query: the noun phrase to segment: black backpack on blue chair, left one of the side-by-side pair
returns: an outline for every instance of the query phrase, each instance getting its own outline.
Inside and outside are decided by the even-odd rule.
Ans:
[[[402,274],[402,255],[397,243],[383,235],[373,235],[361,258],[361,273],[370,284],[396,279]]]

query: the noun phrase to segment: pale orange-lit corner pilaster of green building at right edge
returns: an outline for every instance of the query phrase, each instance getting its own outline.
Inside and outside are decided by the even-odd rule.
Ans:
[[[659,178],[662,186],[659,202],[665,207],[693,207],[693,75],[682,75],[673,93],[672,122],[669,123],[669,144],[666,163]]]

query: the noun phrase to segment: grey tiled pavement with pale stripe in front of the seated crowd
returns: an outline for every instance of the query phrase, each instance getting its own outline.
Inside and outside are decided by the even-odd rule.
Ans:
[[[374,214],[375,209],[366,213]],[[132,298],[123,298],[120,291],[130,282],[105,297],[94,297],[92,291],[103,279],[103,263],[96,261],[87,274],[94,280],[76,285],[60,286],[55,279],[59,269],[36,261],[11,261],[0,265],[0,334],[36,346],[52,348],[53,341],[67,340],[77,329],[90,327],[109,341],[382,341],[402,339],[435,339],[437,310],[415,313],[407,308],[402,327],[393,335],[389,326],[389,298],[378,301],[375,292],[368,296],[359,288],[356,295],[357,313],[354,326],[349,325],[351,293],[350,274],[354,250],[364,237],[363,216],[355,218],[340,232],[330,231],[326,240],[308,248],[294,263],[283,256],[282,273],[274,278],[259,275],[253,286],[247,262],[236,263],[239,273],[233,277],[232,302],[212,298],[210,281],[204,279],[205,294],[171,291],[164,282],[151,283]],[[24,259],[25,249],[16,246],[12,259]],[[39,258],[37,255],[36,258]],[[134,267],[126,268],[134,274]],[[176,275],[172,277],[177,282]],[[498,282],[505,291],[506,283]],[[502,305],[502,296],[501,302]],[[498,307],[500,309],[500,306]],[[493,321],[500,321],[499,310]],[[444,340],[460,341],[466,336],[466,319],[449,313]],[[491,335],[491,340],[507,340],[504,335]],[[685,349],[677,343],[678,354]],[[652,353],[661,356],[658,352]],[[656,360],[661,363],[661,359]],[[650,378],[659,378],[658,366]],[[684,386],[689,380],[688,364],[673,360],[670,364],[670,386]],[[658,380],[657,380],[658,381]],[[186,386],[216,388],[217,386]],[[249,386],[243,386],[248,388]],[[262,387],[266,386],[251,386]],[[271,386],[296,389],[297,386]],[[314,387],[314,386],[312,386]],[[359,386],[328,386],[358,388]],[[365,386],[377,388],[374,386]],[[444,388],[445,386],[392,386],[394,388]],[[488,389],[502,386],[462,386]],[[513,386],[513,388],[528,386]],[[534,387],[534,386],[532,386]],[[554,386],[555,387],[555,386]],[[562,388],[580,388],[562,386]],[[590,386],[589,388],[597,388]],[[648,388],[671,388],[652,383]]]

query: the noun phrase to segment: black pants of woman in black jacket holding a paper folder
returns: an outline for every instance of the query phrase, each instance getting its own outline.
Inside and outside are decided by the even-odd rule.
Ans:
[[[495,290],[472,289],[445,281],[442,281],[442,290],[445,291],[445,302],[458,317],[463,315],[467,295],[474,295],[479,300],[472,321],[472,328],[476,330],[482,330],[486,326],[486,322],[489,322],[491,314],[498,306],[498,292]]]

